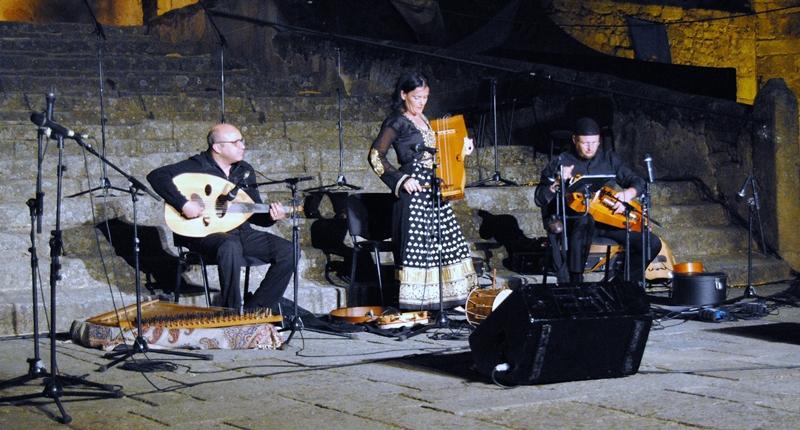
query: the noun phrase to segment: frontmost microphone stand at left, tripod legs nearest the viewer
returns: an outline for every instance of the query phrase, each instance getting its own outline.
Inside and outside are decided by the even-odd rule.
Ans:
[[[120,386],[99,384],[97,382],[87,381],[80,377],[61,375],[58,371],[57,351],[56,351],[56,290],[58,281],[61,279],[61,261],[60,256],[63,250],[62,230],[61,230],[61,191],[63,186],[64,176],[64,136],[56,135],[58,141],[58,167],[57,167],[57,186],[56,186],[56,225],[55,230],[50,232],[50,370],[51,373],[47,374],[44,379],[44,390],[37,394],[24,394],[20,396],[11,396],[0,398],[0,402],[18,402],[21,400],[30,400],[38,397],[51,398],[56,404],[60,416],[57,418],[59,422],[68,424],[72,421],[72,417],[67,414],[64,405],[61,403],[61,398],[65,396],[77,397],[94,397],[94,398],[120,398],[124,395]],[[80,139],[80,137],[78,137]],[[36,274],[33,274],[36,277]],[[35,297],[35,292],[34,292]],[[35,300],[35,299],[34,299]],[[35,311],[34,311],[35,312]],[[34,314],[36,315],[36,314]],[[22,377],[27,379],[28,376]],[[16,378],[18,380],[19,378]],[[85,389],[99,390],[99,391],[70,391],[65,390],[65,387],[73,387],[83,385]]]

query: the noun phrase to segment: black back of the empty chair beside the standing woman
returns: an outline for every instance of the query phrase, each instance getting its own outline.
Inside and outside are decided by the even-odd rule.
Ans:
[[[382,241],[392,237],[392,212],[397,198],[390,193],[360,193],[347,197],[347,230],[353,237]]]

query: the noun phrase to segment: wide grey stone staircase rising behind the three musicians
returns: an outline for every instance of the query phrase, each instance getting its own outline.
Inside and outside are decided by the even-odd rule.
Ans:
[[[188,54],[195,52],[195,47],[161,42],[141,28],[107,31],[106,154],[122,170],[144,180],[153,168],[204,149],[205,133],[219,118],[218,66],[211,54]],[[100,150],[95,44],[88,25],[0,23],[0,216],[5,220],[0,229],[0,253],[4,257],[0,260],[0,275],[5,280],[0,284],[2,334],[26,333],[32,327],[30,219],[25,202],[35,190],[36,129],[28,117],[31,111],[43,109],[44,94],[52,89],[57,95],[57,121],[89,134],[92,145]],[[304,183],[306,187],[335,182],[339,156],[335,97],[292,95],[264,81],[244,62],[229,65],[229,69],[226,119],[241,126],[248,142],[247,159],[265,175],[259,180],[315,177],[315,181]],[[365,162],[366,149],[383,119],[382,103],[382,97],[362,97],[346,101],[344,106],[344,171],[348,182],[362,186],[364,191],[386,191]],[[51,141],[43,170],[43,233],[36,237],[46,300],[49,232],[55,224],[56,150]],[[503,176],[520,184],[535,181],[546,162],[529,147],[501,146],[498,154]],[[72,141],[65,144],[64,160],[64,196],[98,184],[102,176],[100,163]],[[480,174],[490,176],[494,169],[491,148],[479,148],[468,158],[467,167],[469,181],[478,179]],[[127,188],[119,174],[111,169],[108,172],[112,185]],[[730,284],[743,283],[746,232],[732,226],[720,207],[702,201],[692,184],[657,184],[654,188],[653,216],[664,225],[658,233],[663,234],[678,260],[699,259],[709,270],[728,273]],[[289,198],[280,186],[262,191],[270,200]],[[57,284],[60,331],[68,329],[74,319],[110,310],[112,297],[117,305],[134,300],[131,252],[124,243],[133,220],[133,204],[129,196],[113,194],[107,199],[95,194],[93,199],[83,195],[62,200],[64,256],[62,279]],[[156,281],[168,283],[174,276],[170,268],[174,267],[175,248],[171,234],[163,226],[162,205],[148,196],[140,197],[136,215],[142,227],[142,270],[161,278]],[[473,243],[474,254],[489,259],[493,267],[503,267],[509,250],[499,245],[497,238],[484,237],[487,220],[506,223],[511,219],[507,216],[512,217],[516,227],[503,225],[514,227],[506,231],[516,239],[543,235],[532,186],[471,188],[464,200],[454,203],[454,209]],[[341,235],[344,244],[339,251],[346,254],[343,224],[331,219],[329,202],[324,201],[322,212],[327,219],[299,221],[303,258],[298,300],[301,306],[318,313],[346,302],[345,289],[331,285],[325,276],[326,251],[330,250],[316,243],[320,232],[322,236]],[[104,220],[116,220],[122,233],[116,242],[112,236],[113,244],[102,234],[96,236],[99,230],[94,226]],[[291,237],[291,226],[285,222],[270,231]],[[334,239],[338,240],[338,236]],[[264,270],[254,269],[254,286]],[[209,273],[214,285],[216,271]],[[783,262],[757,257],[754,274],[759,282],[785,279],[789,268]],[[191,283],[200,283],[196,268],[187,277]],[[287,296],[291,297],[291,287]],[[189,296],[187,300],[197,302],[199,297]],[[44,317],[41,323],[44,324]]]

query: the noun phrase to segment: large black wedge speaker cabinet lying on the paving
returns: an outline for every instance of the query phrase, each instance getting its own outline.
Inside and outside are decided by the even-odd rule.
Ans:
[[[525,285],[469,344],[477,370],[504,383],[615,378],[639,370],[651,324],[647,298],[632,283]]]

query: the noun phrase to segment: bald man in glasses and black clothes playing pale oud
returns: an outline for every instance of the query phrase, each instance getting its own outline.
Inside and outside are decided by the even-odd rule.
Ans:
[[[183,173],[202,173],[223,178],[237,184],[239,192],[245,192],[255,202],[261,203],[256,186],[255,171],[243,161],[245,141],[242,133],[230,124],[217,124],[206,138],[208,148],[186,160],[159,167],[147,175],[147,180],[164,201],[178,210],[186,219],[204,215],[203,204],[187,199],[173,182]],[[204,258],[217,262],[219,271],[221,306],[236,309],[242,305],[239,290],[241,268],[247,264],[246,257],[255,257],[270,267],[258,290],[244,303],[245,310],[271,307],[282,296],[292,276],[292,244],[273,234],[255,230],[250,222],[268,227],[286,217],[282,204],[272,203],[268,213],[254,214],[230,231],[212,233],[204,237],[175,235],[176,244],[201,253]]]

